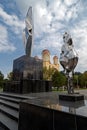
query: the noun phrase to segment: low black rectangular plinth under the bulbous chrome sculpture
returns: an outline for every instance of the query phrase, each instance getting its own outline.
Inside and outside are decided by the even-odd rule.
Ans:
[[[81,95],[81,94],[60,94],[59,100],[71,101],[71,102],[81,101],[81,100],[84,100],[84,95]]]

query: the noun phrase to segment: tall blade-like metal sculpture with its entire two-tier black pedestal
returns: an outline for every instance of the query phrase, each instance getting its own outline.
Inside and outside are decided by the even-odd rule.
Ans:
[[[13,61],[13,81],[4,86],[5,92],[30,93],[51,91],[51,82],[43,80],[43,61],[32,57],[33,44],[33,15],[29,7],[23,30],[25,55]]]

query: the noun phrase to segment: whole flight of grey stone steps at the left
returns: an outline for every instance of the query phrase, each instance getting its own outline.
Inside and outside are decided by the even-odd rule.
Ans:
[[[18,130],[19,103],[34,98],[36,99],[20,94],[0,93],[0,123],[8,128],[4,130]]]

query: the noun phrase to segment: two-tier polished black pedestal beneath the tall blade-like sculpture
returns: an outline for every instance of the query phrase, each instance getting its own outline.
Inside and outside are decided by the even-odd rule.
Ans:
[[[43,80],[43,61],[21,56],[13,62],[13,80],[4,83],[3,92],[38,93],[52,91],[52,82]]]

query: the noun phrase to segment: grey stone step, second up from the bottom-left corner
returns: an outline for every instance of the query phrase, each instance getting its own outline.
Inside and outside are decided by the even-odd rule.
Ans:
[[[18,122],[19,112],[4,105],[0,105],[0,112],[6,114],[9,118]]]

